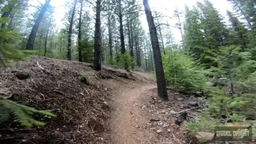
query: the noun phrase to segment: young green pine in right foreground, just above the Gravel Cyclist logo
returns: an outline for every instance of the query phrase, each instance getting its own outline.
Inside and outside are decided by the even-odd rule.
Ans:
[[[187,127],[192,134],[198,131],[212,132],[213,126],[226,125],[227,122],[252,124],[246,120],[253,117],[256,105],[256,61],[251,60],[250,53],[241,52],[240,46],[220,47],[217,57],[218,67],[211,68],[211,74],[226,77],[226,86],[208,86],[210,91],[208,107],[200,112],[195,122]],[[205,128],[206,123],[214,124]]]

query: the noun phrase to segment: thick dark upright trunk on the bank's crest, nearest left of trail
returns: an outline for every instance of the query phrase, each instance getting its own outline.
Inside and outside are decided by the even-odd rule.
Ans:
[[[96,19],[95,19],[95,34],[94,34],[94,70],[101,70],[101,30],[100,30],[100,3],[96,2]]]

